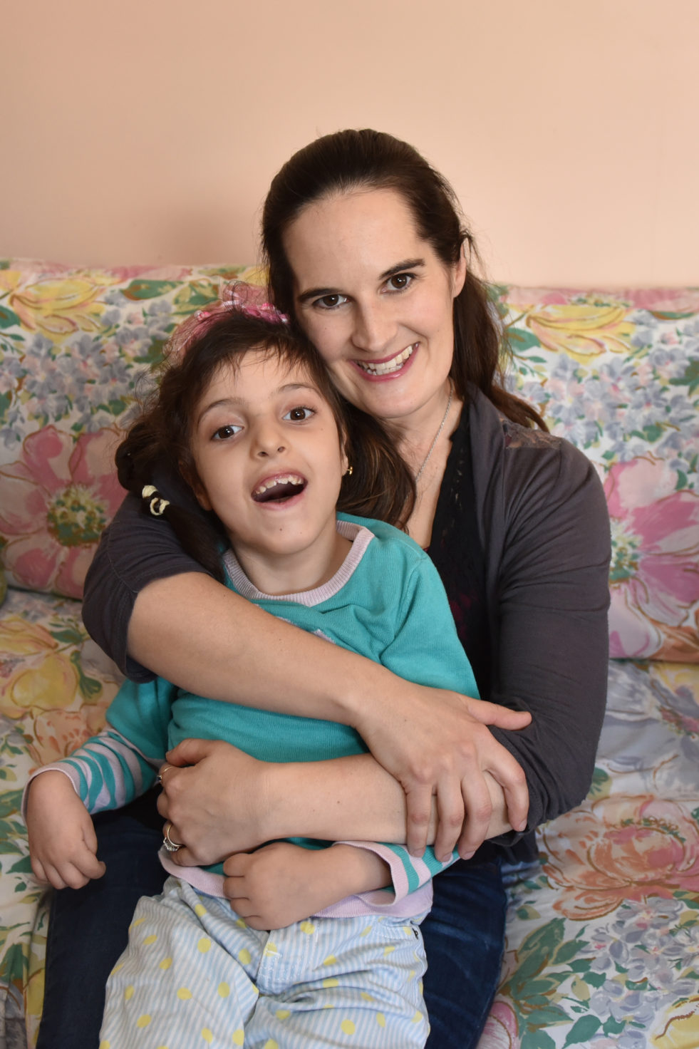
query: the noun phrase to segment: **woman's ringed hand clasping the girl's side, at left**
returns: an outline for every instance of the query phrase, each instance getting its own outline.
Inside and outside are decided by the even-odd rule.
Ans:
[[[172,840],[184,842],[170,859],[181,866],[218,863],[274,837],[267,827],[271,768],[216,740],[185,740],[169,751],[157,810],[172,823]]]

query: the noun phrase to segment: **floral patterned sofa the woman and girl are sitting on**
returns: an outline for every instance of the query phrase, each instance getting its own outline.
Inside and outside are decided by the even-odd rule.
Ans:
[[[233,275],[255,279],[0,262],[0,1047],[34,1044],[43,989],[21,790],[100,728],[119,684],[80,596],[123,495],[120,428],[172,326]],[[603,478],[613,658],[590,795],[511,887],[481,1049],[697,1047],[699,290],[493,287],[493,306],[511,383]]]

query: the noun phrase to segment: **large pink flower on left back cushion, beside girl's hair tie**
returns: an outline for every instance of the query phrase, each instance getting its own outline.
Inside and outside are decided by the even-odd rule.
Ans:
[[[124,498],[113,466],[120,436],[104,429],[76,441],[47,426],[0,467],[3,560],[15,583],[82,596],[100,535]]]

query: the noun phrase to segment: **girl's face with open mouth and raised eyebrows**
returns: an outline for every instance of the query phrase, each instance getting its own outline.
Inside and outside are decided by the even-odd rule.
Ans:
[[[223,521],[249,575],[251,558],[334,543],[347,462],[333,411],[304,368],[259,350],[237,370],[220,368],[196,405],[191,440],[196,497]]]

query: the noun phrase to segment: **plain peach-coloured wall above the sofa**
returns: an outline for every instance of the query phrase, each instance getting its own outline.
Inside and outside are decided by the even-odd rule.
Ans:
[[[251,262],[270,178],[417,145],[490,275],[698,283],[697,0],[4,5],[0,255]]]

